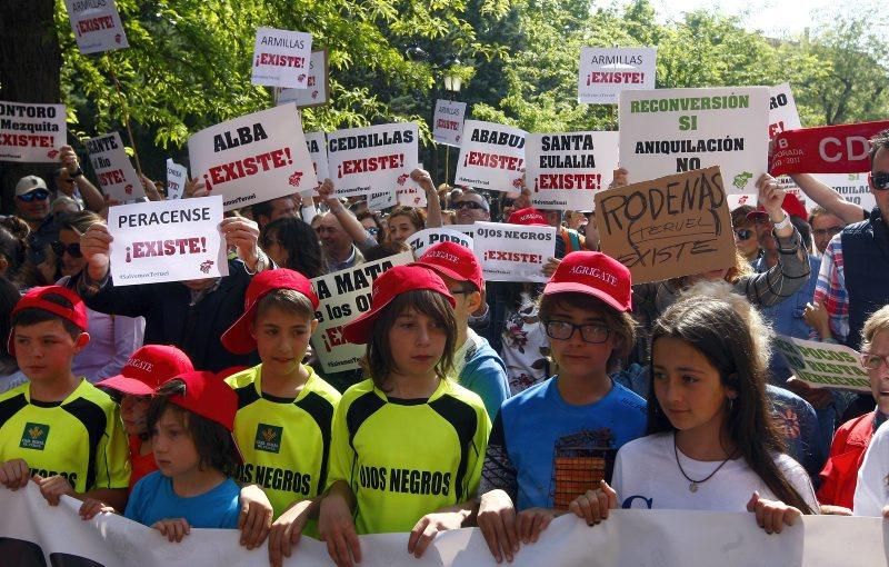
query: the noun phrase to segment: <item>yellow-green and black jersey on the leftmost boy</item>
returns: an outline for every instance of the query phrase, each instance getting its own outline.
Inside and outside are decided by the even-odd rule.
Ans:
[[[62,401],[31,399],[26,382],[0,395],[0,461],[61,475],[77,493],[127,488],[130,457],[117,404],[86,379]]]

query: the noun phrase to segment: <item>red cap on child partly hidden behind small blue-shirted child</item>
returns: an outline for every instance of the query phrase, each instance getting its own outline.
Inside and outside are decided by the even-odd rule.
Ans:
[[[193,370],[188,355],[178,348],[146,345],[130,356],[119,375],[106,378],[96,386],[132,396],[151,396],[158,386],[170,378]]]

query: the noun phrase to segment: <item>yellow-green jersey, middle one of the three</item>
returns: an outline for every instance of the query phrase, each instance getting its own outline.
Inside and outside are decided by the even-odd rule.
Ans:
[[[226,379],[238,394],[234,437],[244,464],[239,483],[262,488],[274,517],[297,500],[314,498],[327,481],[330,429],[340,394],[311,367],[299,396],[262,392],[262,365]]]

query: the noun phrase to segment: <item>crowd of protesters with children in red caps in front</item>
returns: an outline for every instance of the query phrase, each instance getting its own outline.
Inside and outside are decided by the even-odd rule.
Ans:
[[[406,533],[419,557],[467,526],[511,561],[553,518],[617,508],[750,513],[769,534],[889,516],[889,131],[871,143],[873,210],[792,176],[807,211],[763,176],[731,211],[731,268],[641,285],[588,211],[414,170],[424,208],[383,215],[324,180],[228,212],[228,276],[116,286],[116,203],[66,147],[0,219],[0,484],[170,541],[238,529],[272,565],[302,535],[348,566],[359,535]],[[312,278],[477,221],[555,227],[547,282],[486,282],[472,250],[431,246],[344,327],[362,368],[324,371]],[[871,392],[798,379],[776,334],[856,349]]]

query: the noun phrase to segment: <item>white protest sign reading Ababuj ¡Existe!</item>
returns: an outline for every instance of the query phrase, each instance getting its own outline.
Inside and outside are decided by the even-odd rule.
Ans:
[[[525,173],[525,130],[467,120],[455,185],[491,191],[518,191]]]

